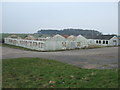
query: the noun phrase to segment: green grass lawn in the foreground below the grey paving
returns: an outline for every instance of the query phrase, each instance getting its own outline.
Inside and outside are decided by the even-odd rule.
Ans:
[[[54,60],[3,60],[3,88],[116,88],[117,69],[81,69]]]

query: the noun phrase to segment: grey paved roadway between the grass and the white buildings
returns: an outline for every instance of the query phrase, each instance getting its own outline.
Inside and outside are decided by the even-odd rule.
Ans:
[[[40,57],[54,59],[82,68],[111,69],[118,68],[118,47],[81,49],[58,52],[24,51],[9,47],[0,47],[2,58]]]

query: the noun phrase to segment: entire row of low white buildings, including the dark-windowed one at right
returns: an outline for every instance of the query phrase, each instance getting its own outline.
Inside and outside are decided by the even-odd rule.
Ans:
[[[109,37],[109,38],[108,38]],[[7,37],[4,39],[6,44],[21,46],[33,50],[49,51],[49,50],[66,50],[85,48],[89,45],[104,45],[104,46],[117,46],[117,36],[102,36],[99,38],[87,39],[82,35],[64,37],[55,35],[47,38],[34,38],[28,36],[25,39],[17,37]]]

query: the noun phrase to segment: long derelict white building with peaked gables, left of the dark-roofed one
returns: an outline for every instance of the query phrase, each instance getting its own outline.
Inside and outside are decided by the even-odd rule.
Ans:
[[[87,44],[88,40],[81,35],[77,37],[69,36],[65,38],[57,34],[53,37],[38,38],[38,39],[34,39],[31,36],[26,37],[25,39],[8,37],[5,38],[4,41],[6,44],[21,46],[33,50],[40,50],[40,51],[66,50],[66,49],[75,49],[75,48],[82,48],[88,46]]]

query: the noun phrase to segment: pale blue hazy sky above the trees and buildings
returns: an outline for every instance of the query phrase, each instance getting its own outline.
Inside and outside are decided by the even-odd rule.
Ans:
[[[2,32],[36,33],[39,29],[89,29],[118,33],[117,2],[4,2]]]

